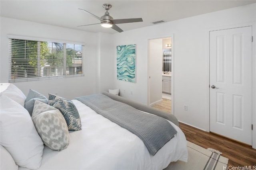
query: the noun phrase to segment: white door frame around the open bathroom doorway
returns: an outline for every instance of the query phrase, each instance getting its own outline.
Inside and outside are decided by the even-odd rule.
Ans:
[[[171,93],[172,93],[172,114],[174,115],[174,34],[169,34],[169,35],[161,35],[161,36],[157,36],[157,37],[149,37],[147,39],[147,43],[148,43],[148,71],[147,71],[147,105],[150,105],[150,40],[152,39],[163,39],[163,38],[171,38],[172,39],[172,78],[171,78]]]

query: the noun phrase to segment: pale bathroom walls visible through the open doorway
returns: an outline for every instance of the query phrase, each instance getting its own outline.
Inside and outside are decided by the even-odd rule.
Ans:
[[[167,43],[167,41],[170,41]],[[168,46],[169,47],[166,47]],[[164,74],[164,51],[172,51],[171,60],[168,61],[170,63],[169,72],[165,72],[164,75],[169,76],[169,91],[165,95],[168,100],[172,100],[171,102],[171,113],[174,113],[174,58],[173,58],[173,48],[174,47],[174,39],[173,35],[168,35],[164,37],[156,37],[148,39],[148,105],[153,106],[162,102],[163,93],[163,79],[162,76]],[[170,57],[169,57],[170,58]],[[166,74],[168,73],[168,74]],[[166,85],[166,84],[165,84]],[[166,86],[165,86],[166,87]],[[172,87],[172,88],[171,88]],[[170,94],[172,94],[170,98]],[[164,97],[165,98],[165,97]]]

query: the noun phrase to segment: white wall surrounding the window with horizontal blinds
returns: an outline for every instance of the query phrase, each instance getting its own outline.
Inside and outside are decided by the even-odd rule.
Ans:
[[[64,98],[73,99],[96,92],[96,53],[97,36],[95,33],[67,29],[40,23],[33,23],[11,18],[0,18],[0,82],[8,82],[8,38],[7,35],[39,37],[44,39],[81,42],[85,44],[85,76],[62,78],[54,80],[31,81],[14,83],[27,95],[29,89],[44,94],[58,94]]]

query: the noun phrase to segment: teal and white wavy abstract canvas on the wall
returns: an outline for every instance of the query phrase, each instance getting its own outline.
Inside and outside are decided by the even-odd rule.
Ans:
[[[117,80],[136,82],[136,44],[116,46]]]

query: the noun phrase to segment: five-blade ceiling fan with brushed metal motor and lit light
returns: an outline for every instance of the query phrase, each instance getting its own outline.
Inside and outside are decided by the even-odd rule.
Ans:
[[[116,24],[118,23],[131,23],[131,22],[142,22],[142,18],[128,18],[128,19],[118,19],[118,20],[113,20],[112,16],[109,15],[108,10],[112,7],[112,5],[110,4],[103,4],[103,8],[105,8],[106,12],[104,14],[104,16],[102,17],[98,17],[84,9],[80,9],[79,10],[84,10],[85,12],[88,12],[91,16],[93,16],[94,18],[97,18],[98,20],[100,20],[100,23],[92,23],[92,24],[87,24],[87,25],[96,25],[96,24],[100,24],[102,27],[106,27],[106,28],[112,28],[118,32],[122,32],[123,30],[118,27]],[[79,25],[78,27],[82,27],[82,26],[87,26],[87,25]]]

